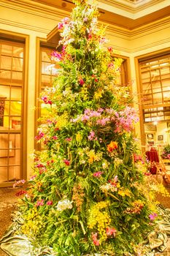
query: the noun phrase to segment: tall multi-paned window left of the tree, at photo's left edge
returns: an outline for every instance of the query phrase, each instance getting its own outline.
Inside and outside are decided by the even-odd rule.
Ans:
[[[24,43],[0,40],[0,183],[21,176]]]

